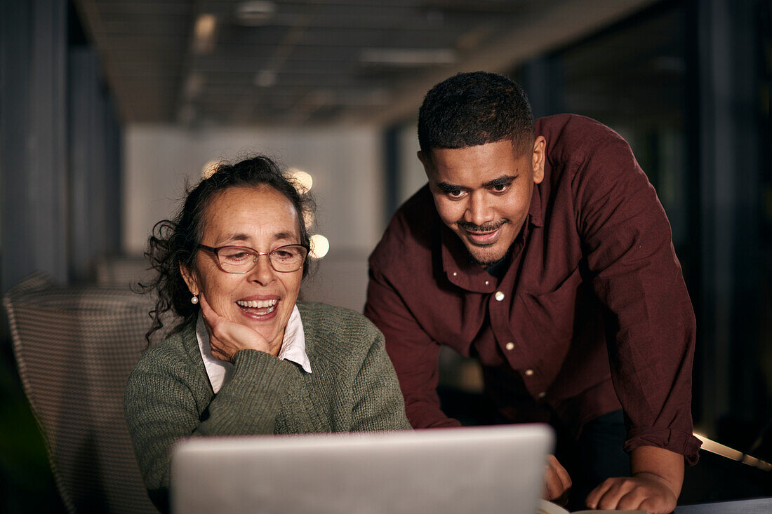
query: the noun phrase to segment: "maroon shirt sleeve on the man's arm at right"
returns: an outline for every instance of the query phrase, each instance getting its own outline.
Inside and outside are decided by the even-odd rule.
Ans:
[[[696,323],[668,219],[621,137],[581,156],[572,181],[577,228],[598,299],[611,313],[611,379],[625,411],[625,450],[698,457],[692,435]]]

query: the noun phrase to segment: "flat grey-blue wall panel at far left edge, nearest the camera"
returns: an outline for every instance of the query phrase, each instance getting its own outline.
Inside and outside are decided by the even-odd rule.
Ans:
[[[0,4],[0,288],[66,280],[67,4]]]

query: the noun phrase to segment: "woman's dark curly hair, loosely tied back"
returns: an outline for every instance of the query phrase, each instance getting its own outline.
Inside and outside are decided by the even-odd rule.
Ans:
[[[151,335],[163,326],[165,313],[171,311],[181,320],[169,332],[177,333],[198,316],[198,305],[191,303],[191,293],[182,278],[180,265],[193,269],[195,254],[204,233],[204,213],[207,206],[220,191],[228,188],[255,188],[269,186],[284,194],[298,213],[300,244],[310,245],[308,229],[303,221],[313,212],[313,199],[286,176],[279,166],[264,155],[257,155],[236,164],[221,162],[215,172],[202,179],[194,188],[186,188],[185,200],[174,219],[158,221],[148,239],[145,256],[150,259],[151,268],[157,272],[151,282],[140,284],[143,293],[156,293],[155,307],[150,311],[152,321],[145,339],[151,342]],[[308,274],[308,260],[303,263],[303,277]]]

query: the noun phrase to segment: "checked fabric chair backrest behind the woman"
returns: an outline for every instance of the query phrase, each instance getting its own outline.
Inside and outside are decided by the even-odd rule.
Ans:
[[[4,304],[22,386],[69,512],[156,512],[124,418],[152,299],[33,275]]]

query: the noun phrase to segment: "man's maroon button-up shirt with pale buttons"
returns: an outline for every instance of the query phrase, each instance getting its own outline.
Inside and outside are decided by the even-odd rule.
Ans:
[[[625,450],[653,445],[696,461],[695,320],[670,225],[625,140],[585,117],[537,120],[544,180],[501,279],[472,261],[422,188],[370,257],[364,313],[386,349],[416,428],[452,426],[436,394],[445,344],[482,364],[510,421],[582,424],[623,408]]]

